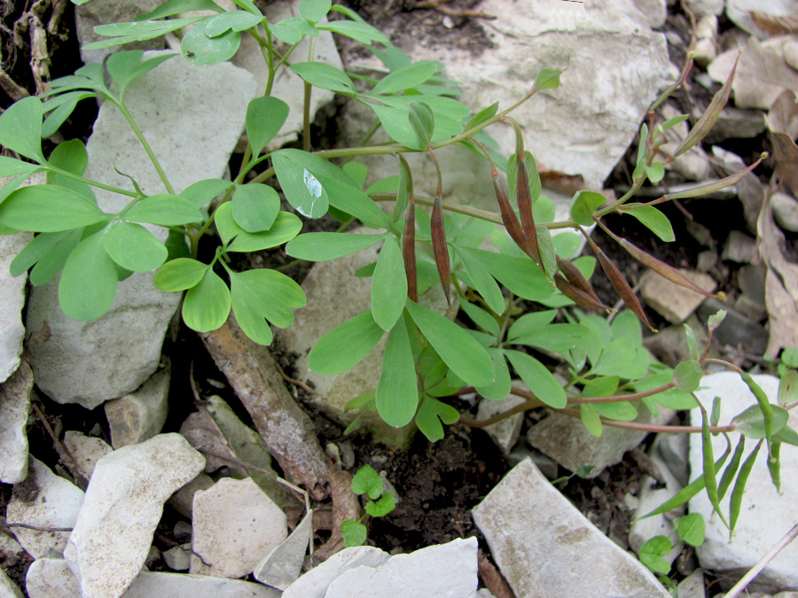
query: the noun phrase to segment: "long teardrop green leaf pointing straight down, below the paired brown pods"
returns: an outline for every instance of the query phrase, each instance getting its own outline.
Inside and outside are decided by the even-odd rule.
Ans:
[[[419,384],[410,338],[404,320],[388,334],[382,357],[382,376],[377,383],[377,413],[388,425],[411,423],[419,405]]]

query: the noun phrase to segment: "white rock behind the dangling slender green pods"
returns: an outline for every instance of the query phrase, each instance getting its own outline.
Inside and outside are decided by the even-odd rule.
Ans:
[[[754,380],[776,402],[778,378],[772,376],[754,376]],[[701,388],[696,396],[705,407],[712,405],[715,397],[721,398],[720,424],[725,425],[741,411],[756,405],[754,395],[738,374],[721,372],[701,379]],[[698,409],[691,413],[692,425],[700,425]],[[798,414],[790,412],[788,425],[798,429]],[[737,443],[738,434],[732,434],[732,443]],[[725,449],[724,437],[719,435],[712,439],[713,450],[720,455]],[[747,439],[746,454],[755,447],[756,440]],[[781,495],[771,483],[767,467],[767,447],[763,446],[756,457],[754,469],[748,477],[746,492],[739,511],[739,520],[734,528],[734,536],[729,540],[729,531],[718,516],[712,516],[712,506],[707,493],[697,494],[691,501],[691,513],[700,513],[707,521],[707,533],[704,543],[696,548],[701,566],[713,571],[731,569],[749,569],[754,566],[782,536],[798,522],[798,502],[794,496],[798,493],[798,447],[784,444],[781,447]],[[701,438],[692,434],[690,438],[690,468],[692,478],[700,474]],[[743,459],[746,457],[743,456]],[[729,512],[729,499],[732,491],[726,493],[721,508],[724,515]],[[728,517],[727,517],[728,520]],[[798,589],[798,545],[794,542],[782,550],[764,571],[757,581]]]

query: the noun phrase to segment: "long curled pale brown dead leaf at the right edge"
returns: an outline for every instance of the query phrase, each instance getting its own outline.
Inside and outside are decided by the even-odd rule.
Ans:
[[[782,348],[798,346],[798,264],[784,255],[784,234],[773,221],[770,194],[763,201],[756,233],[759,254],[768,268],[765,301],[770,338],[765,355],[776,357]]]

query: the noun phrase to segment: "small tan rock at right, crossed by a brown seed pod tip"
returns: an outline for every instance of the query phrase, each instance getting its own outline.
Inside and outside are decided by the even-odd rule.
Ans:
[[[715,291],[717,287],[711,276],[681,268],[679,271],[705,291]],[[705,299],[703,295],[695,291],[671,283],[667,278],[654,273],[653,270],[646,270],[640,283],[640,297],[653,310],[674,324],[685,322],[687,316],[691,315]]]

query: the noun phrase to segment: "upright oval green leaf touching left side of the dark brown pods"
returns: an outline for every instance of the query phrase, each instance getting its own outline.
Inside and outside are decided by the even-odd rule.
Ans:
[[[382,330],[391,330],[402,315],[407,299],[402,250],[387,237],[372,277],[372,315]]]

